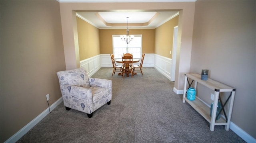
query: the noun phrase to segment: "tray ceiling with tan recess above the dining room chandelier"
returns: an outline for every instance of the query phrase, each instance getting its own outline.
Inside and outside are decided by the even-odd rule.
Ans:
[[[76,15],[99,29],[154,29],[174,18],[177,11],[138,12],[126,10],[119,12],[77,12]],[[127,18],[129,17],[129,18]]]

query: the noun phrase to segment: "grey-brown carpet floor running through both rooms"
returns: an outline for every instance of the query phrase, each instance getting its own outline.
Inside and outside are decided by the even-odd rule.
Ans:
[[[174,82],[153,67],[122,78],[113,68],[101,68],[92,77],[112,80],[112,101],[88,118],[66,111],[63,102],[17,143],[245,143],[224,125],[210,131],[206,121],[182,95]]]

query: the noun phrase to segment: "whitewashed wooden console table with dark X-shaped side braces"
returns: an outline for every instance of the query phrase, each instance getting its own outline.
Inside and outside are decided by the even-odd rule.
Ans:
[[[201,102],[197,97],[195,100],[190,101],[186,98],[186,90],[187,90],[187,82],[188,85],[191,86],[192,82],[190,83],[188,78],[192,79],[194,83],[194,88],[196,89],[197,83],[200,83],[212,90],[214,90],[214,100],[213,100],[213,108],[212,108],[212,117],[210,116],[210,108],[206,106],[203,102]],[[224,106],[226,105],[227,101],[230,100],[229,107],[228,107],[228,115],[226,116],[226,112],[224,110],[224,106],[222,108],[224,110],[224,114],[226,119],[221,117],[220,119],[216,120],[216,112],[217,112],[217,105],[218,100],[221,98],[219,97],[220,92],[230,92],[230,96],[227,98]],[[188,102],[199,114],[201,114],[209,123],[210,123],[210,130],[214,131],[215,125],[225,125],[225,129],[228,131],[230,126],[230,119],[232,114],[232,108],[234,104],[234,97],[235,97],[236,89],[232,88],[226,84],[222,84],[218,81],[212,80],[208,78],[208,80],[201,80],[201,75],[196,73],[185,74],[185,81],[184,81],[184,94],[182,102]]]

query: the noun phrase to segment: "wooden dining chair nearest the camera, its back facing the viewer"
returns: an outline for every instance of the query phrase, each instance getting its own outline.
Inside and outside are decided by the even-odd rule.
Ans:
[[[123,73],[122,73],[123,78],[124,78],[124,74],[126,74],[127,77],[129,76],[129,74],[131,74],[133,78],[132,56],[130,55],[122,56],[122,64],[123,64]]]

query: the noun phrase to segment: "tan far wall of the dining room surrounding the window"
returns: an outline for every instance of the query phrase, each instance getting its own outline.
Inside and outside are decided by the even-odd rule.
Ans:
[[[100,29],[100,53],[113,53],[112,35],[124,35],[126,29]],[[130,29],[130,35],[142,35],[142,53],[154,53],[155,29]]]

